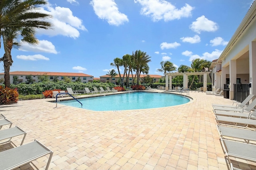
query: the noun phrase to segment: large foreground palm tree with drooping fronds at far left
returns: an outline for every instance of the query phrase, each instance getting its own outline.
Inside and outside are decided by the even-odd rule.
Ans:
[[[46,0],[1,0],[0,2],[0,37],[3,38],[5,52],[0,61],[4,62],[5,87],[10,87],[12,47],[20,45],[14,40],[22,38],[22,42],[36,44],[38,43],[34,36],[36,28],[49,29],[51,26],[49,22],[42,21],[50,15],[38,11],[38,6],[45,4],[47,4]]]

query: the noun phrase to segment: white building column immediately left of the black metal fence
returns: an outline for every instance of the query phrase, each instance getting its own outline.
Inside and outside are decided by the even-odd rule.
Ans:
[[[229,89],[229,99],[234,99],[234,84],[236,84],[236,60],[230,60],[229,65],[229,79],[230,79],[230,89]]]

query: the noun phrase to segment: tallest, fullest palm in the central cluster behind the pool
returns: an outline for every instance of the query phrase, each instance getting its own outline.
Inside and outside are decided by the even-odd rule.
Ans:
[[[137,85],[139,85],[140,73],[142,72],[140,68],[147,65],[151,61],[151,57],[146,52],[140,50],[132,52],[132,55],[134,56],[134,69],[136,69],[137,74]]]

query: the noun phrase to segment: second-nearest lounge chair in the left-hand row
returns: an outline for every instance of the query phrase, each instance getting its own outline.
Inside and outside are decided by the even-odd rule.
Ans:
[[[0,130],[0,144],[8,142],[12,139],[12,137],[19,136],[19,135],[22,135],[22,134],[24,134],[24,137],[23,137],[20,145],[23,144],[24,139],[25,139],[26,134],[27,134],[24,130],[22,130],[21,128],[19,128],[17,126],[12,127],[12,128],[7,128],[7,129],[4,129],[4,130]]]

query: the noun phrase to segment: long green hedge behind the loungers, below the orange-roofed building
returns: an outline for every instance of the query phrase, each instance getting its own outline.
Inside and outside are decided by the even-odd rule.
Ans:
[[[48,82],[41,82],[41,83],[34,83],[34,84],[17,84],[17,85],[10,85],[11,89],[17,88],[18,93],[20,95],[37,95],[37,94],[42,94],[43,91],[46,90],[54,90],[54,89],[61,89],[65,90],[67,87],[71,87],[72,90],[84,90],[84,87],[88,87],[90,90],[93,90],[93,87],[103,87],[104,90],[106,90],[106,87],[113,88],[116,85],[112,83],[66,83],[64,81],[59,81],[59,82],[53,82],[53,81],[48,81]]]

